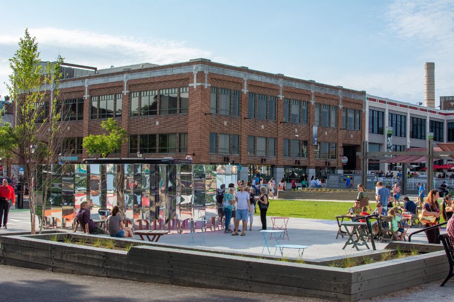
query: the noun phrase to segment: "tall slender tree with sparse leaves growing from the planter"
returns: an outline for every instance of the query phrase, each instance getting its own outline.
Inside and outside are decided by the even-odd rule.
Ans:
[[[28,29],[19,41],[19,48],[9,60],[13,73],[9,76],[10,83],[7,87],[16,108],[14,127],[5,130],[5,136],[12,137],[10,150],[17,157],[19,163],[24,165],[25,184],[29,190],[30,223],[32,234],[36,229],[36,215],[44,217],[45,206],[36,203],[36,192],[43,192],[44,200],[47,199],[50,186],[50,173],[45,173],[42,186],[34,183],[36,164],[45,164],[45,171],[51,171],[50,165],[56,162],[58,154],[55,150],[55,134],[63,126],[61,113],[56,106],[56,98],[60,94],[59,80],[62,75],[60,65],[63,58],[59,55],[55,62],[44,63],[39,58],[38,43],[31,37]],[[48,111],[44,111],[45,103]],[[8,132],[12,131],[12,132]],[[0,135],[2,135],[0,133]],[[10,140],[8,140],[10,142]],[[2,152],[5,152],[2,151]],[[43,219],[40,219],[40,230],[43,228]]]

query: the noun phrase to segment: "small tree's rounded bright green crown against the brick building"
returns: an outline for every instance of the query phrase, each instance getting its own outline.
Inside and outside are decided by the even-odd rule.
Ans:
[[[89,156],[99,154],[101,158],[106,158],[109,154],[119,149],[122,143],[127,140],[127,132],[113,118],[102,121],[101,127],[108,131],[109,134],[90,134],[84,137],[82,145],[87,149]]]

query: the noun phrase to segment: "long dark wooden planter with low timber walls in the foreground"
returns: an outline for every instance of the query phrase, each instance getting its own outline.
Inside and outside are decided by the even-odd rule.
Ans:
[[[62,234],[88,241],[90,235]],[[0,262],[55,272],[128,280],[263,293],[358,301],[443,279],[448,271],[444,251],[377,262],[353,268],[282,262],[194,251],[189,248],[135,242],[129,252],[46,240],[48,234],[2,236]],[[105,238],[105,237],[103,237]],[[87,242],[88,242],[87,241]],[[400,244],[400,243],[396,243]],[[405,246],[405,245],[404,245]],[[426,245],[434,250],[440,246]],[[441,247],[440,247],[441,248]],[[315,263],[315,262],[312,262]]]

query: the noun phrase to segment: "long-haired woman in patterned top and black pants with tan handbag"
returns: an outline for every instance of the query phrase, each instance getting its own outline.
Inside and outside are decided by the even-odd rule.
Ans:
[[[422,213],[419,218],[421,222],[424,223],[424,228],[428,226],[435,225],[440,220],[441,211],[438,205],[439,193],[437,190],[433,189],[429,192],[426,198],[426,202],[422,207]],[[438,236],[440,235],[440,228],[435,228],[432,230],[425,231],[427,240],[429,243],[440,244]]]

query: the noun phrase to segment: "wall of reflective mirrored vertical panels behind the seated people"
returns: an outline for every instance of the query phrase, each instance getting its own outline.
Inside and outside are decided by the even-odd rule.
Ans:
[[[83,201],[92,218],[98,210],[119,206],[125,219],[167,227],[169,221],[209,219],[217,215],[216,190],[237,183],[236,166],[191,164],[75,164],[36,167],[36,212],[72,221]],[[47,192],[41,188],[47,181]],[[45,200],[45,204],[43,204]]]

